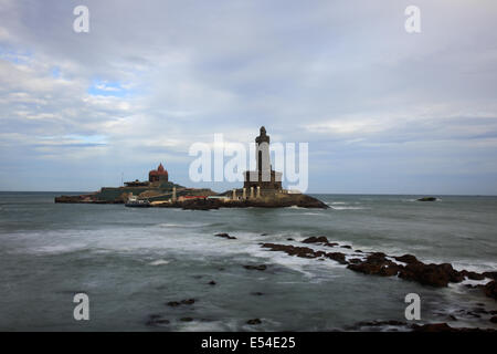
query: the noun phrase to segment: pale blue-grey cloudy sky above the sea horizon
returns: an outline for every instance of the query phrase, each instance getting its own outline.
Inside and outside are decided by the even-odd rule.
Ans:
[[[0,190],[159,163],[240,187],[192,183],[189,147],[264,125],[308,143],[308,192],[497,195],[496,21],[495,0],[0,0]]]

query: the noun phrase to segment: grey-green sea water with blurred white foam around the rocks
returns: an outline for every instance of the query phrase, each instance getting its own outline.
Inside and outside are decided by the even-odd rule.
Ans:
[[[357,330],[361,321],[405,321],[412,292],[421,296],[420,323],[497,327],[467,314],[497,309],[478,289],[364,275],[260,246],[326,236],[362,251],[496,271],[496,197],[419,202],[416,196],[316,195],[330,209],[191,211],[63,205],[53,202],[55,195],[0,194],[1,331]],[[80,292],[89,296],[89,321],[73,317]],[[166,305],[190,298],[193,305]],[[147,325],[150,315],[169,324]],[[246,324],[251,319],[262,323]]]

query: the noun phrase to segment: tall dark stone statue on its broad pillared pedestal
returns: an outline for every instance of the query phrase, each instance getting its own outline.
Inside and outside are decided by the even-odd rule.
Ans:
[[[271,165],[269,136],[266,128],[261,127],[260,135],[255,138],[256,170],[245,171],[242,198],[258,198],[265,195],[282,192],[282,173],[275,171]],[[236,198],[233,191],[233,199]]]

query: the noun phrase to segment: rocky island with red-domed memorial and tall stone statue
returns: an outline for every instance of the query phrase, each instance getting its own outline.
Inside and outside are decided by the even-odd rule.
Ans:
[[[245,171],[243,188],[216,194],[211,189],[187,188],[169,181],[169,174],[162,164],[149,171],[147,181],[134,180],[123,187],[104,187],[87,195],[60,196],[55,202],[67,204],[129,204],[136,206],[209,210],[219,208],[329,208],[322,201],[297,190],[282,187],[282,173],[271,166],[269,136],[261,127],[255,138],[256,170]]]

